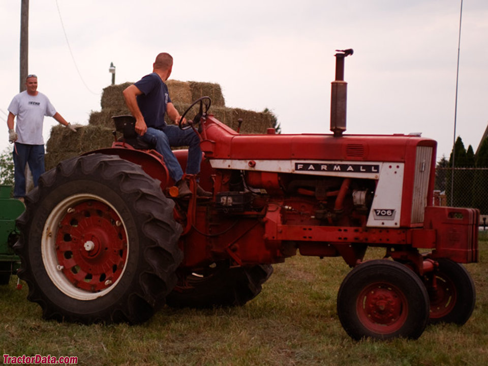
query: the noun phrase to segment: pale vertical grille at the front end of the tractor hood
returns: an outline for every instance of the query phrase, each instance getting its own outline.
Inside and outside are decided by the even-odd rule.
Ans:
[[[432,150],[432,147],[417,146],[412,195],[412,224],[423,223],[424,208],[427,205],[429,177],[431,176]]]

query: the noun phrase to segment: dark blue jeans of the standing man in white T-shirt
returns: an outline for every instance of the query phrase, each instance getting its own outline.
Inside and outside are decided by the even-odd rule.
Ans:
[[[44,173],[44,145],[27,145],[16,142],[14,151],[14,197],[25,196],[25,164],[29,164],[34,187]]]

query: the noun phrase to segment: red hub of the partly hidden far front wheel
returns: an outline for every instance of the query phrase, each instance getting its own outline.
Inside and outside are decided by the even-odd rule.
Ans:
[[[436,275],[436,289],[429,291],[431,300],[431,318],[442,318],[448,315],[456,304],[456,287],[452,281],[439,273]]]

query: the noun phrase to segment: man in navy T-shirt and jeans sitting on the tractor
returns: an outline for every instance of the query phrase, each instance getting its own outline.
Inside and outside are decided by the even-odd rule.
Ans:
[[[202,161],[200,138],[193,129],[181,130],[178,126],[181,118],[169,98],[168,87],[164,83],[171,75],[173,57],[166,52],[158,54],[153,64],[153,73],[144,76],[124,90],[124,99],[132,115],[136,118],[136,132],[164,157],[169,175],[176,182],[178,197],[191,195],[187,182],[182,179],[183,170],[171,150],[171,146],[189,146],[187,174],[198,174]],[[166,125],[164,114],[175,125]],[[186,124],[184,119],[182,124]],[[197,185],[198,196],[211,196]]]

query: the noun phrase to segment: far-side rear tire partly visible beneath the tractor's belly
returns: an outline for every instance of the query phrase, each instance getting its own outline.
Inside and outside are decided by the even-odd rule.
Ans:
[[[262,284],[272,272],[271,265],[263,264],[237,268],[217,266],[201,273],[189,273],[180,277],[167,297],[167,304],[197,309],[243,306],[261,292]]]

